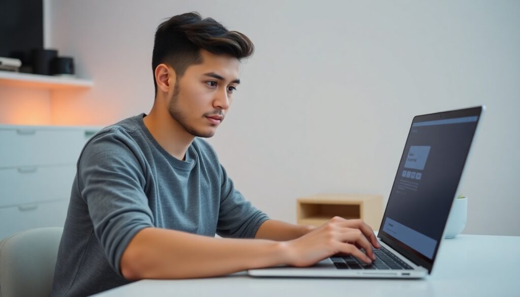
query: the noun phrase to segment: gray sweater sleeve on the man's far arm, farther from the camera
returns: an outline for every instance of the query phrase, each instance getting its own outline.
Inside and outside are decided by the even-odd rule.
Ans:
[[[235,189],[226,170],[220,165],[221,191],[217,234],[222,237],[254,238],[269,217],[257,210]]]

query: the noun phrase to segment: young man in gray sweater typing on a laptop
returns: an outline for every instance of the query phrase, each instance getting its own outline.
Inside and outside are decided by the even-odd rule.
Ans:
[[[318,228],[269,219],[235,189],[200,138],[213,136],[225,119],[240,59],[253,49],[245,35],[197,13],[159,25],[152,110],[104,128],[77,162],[54,296],[142,278],[308,266],[336,253],[371,262],[379,244],[368,225],[340,217]]]

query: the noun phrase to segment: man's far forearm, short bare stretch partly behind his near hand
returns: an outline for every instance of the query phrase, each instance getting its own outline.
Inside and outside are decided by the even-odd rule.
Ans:
[[[311,230],[314,230],[314,228],[316,227],[299,226],[277,221],[276,219],[268,219],[262,224],[262,226],[260,226],[260,228],[258,228],[255,239],[270,239],[277,241],[291,240],[304,236]]]

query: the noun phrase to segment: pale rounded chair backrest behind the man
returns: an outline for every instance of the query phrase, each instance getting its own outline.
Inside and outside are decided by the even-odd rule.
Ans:
[[[36,228],[0,241],[0,297],[50,296],[62,233]]]

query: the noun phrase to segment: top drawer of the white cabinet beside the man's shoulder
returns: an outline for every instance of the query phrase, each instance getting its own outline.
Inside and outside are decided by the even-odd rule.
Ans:
[[[90,136],[81,129],[0,129],[0,167],[73,164]]]

